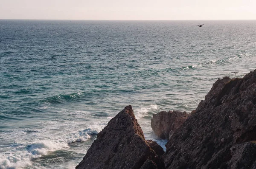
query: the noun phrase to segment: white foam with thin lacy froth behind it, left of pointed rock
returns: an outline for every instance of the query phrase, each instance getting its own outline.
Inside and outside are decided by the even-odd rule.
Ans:
[[[15,152],[12,149],[4,149],[5,153],[0,155],[0,169],[23,169],[27,166],[33,165],[33,159],[42,157],[43,155],[48,155],[49,152],[56,150],[69,149],[69,144],[77,141],[87,141],[90,135],[98,134],[108,123],[107,120],[98,121],[86,127],[84,130],[78,130],[76,132],[70,132],[61,135],[60,133],[48,133],[45,135],[46,130],[50,128],[61,128],[62,125],[55,121],[55,125],[49,127],[50,125],[44,124],[44,128],[36,130],[35,132],[26,132],[23,130],[16,130],[12,132],[6,132],[5,138],[14,138],[15,142]],[[76,125],[76,124],[74,124]],[[69,126],[72,128],[72,126]],[[74,129],[74,127],[73,127]],[[19,136],[16,139],[15,135]],[[28,140],[28,136],[35,137],[31,141]],[[41,138],[43,138],[41,140]],[[17,144],[17,145],[16,145]],[[1,147],[0,147],[1,148]]]

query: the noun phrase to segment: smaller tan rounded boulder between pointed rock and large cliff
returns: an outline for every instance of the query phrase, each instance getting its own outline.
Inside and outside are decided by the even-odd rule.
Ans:
[[[189,115],[180,111],[159,112],[151,118],[151,128],[158,137],[169,139]]]

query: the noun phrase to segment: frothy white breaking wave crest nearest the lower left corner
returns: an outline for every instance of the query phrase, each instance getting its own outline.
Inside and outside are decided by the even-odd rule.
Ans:
[[[34,141],[27,145],[17,144],[15,145],[15,152],[5,152],[3,155],[0,155],[0,169],[22,169],[32,166],[34,159],[41,158],[44,155],[49,155],[49,152],[66,150],[70,148],[69,144],[87,141],[91,135],[98,134],[105,125],[106,121],[100,121],[97,124],[93,124],[90,127],[85,128],[84,130],[59,136],[55,139],[52,138],[51,140],[44,139]],[[27,132],[27,130],[18,131],[23,135],[31,133],[30,131]]]

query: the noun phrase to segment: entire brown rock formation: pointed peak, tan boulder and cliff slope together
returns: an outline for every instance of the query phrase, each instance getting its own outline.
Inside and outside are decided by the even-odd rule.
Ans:
[[[165,153],[145,140],[127,106],[99,132],[76,169],[256,169],[256,70],[218,79],[190,115],[160,112],[151,126],[169,138]]]

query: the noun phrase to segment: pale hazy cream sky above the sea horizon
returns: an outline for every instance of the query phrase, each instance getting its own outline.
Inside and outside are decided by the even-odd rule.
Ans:
[[[0,0],[0,19],[256,20],[256,0]]]

